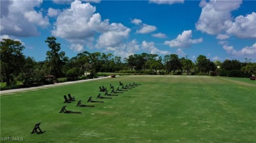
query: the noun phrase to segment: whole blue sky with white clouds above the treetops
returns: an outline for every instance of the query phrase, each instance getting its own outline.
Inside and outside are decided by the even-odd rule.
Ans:
[[[1,39],[44,61],[51,36],[70,58],[86,50],[256,62],[256,1],[1,1]]]

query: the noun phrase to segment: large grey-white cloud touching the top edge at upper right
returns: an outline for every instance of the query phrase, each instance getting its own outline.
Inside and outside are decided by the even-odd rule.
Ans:
[[[232,20],[231,11],[240,7],[242,0],[237,1],[215,1],[202,2],[202,12],[196,29],[210,35],[216,35],[226,29],[225,22]]]

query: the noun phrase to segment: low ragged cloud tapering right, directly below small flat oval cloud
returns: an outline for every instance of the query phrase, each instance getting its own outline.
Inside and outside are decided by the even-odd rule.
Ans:
[[[150,54],[161,54],[161,55],[171,54],[167,50],[159,50],[158,48],[156,48],[154,42],[146,42],[145,40],[142,41],[142,49],[149,51]]]

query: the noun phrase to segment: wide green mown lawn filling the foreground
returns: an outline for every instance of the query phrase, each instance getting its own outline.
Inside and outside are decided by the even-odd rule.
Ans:
[[[142,85],[96,99],[99,86],[119,81]],[[75,102],[63,103],[68,93]],[[104,103],[87,103],[90,96]],[[78,100],[95,108],[77,107]],[[60,114],[64,105],[82,114]],[[1,142],[256,142],[255,113],[256,82],[249,79],[119,76],[1,95]],[[46,132],[30,134],[39,122]]]

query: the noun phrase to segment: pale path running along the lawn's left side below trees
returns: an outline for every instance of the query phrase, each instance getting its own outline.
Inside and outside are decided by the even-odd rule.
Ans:
[[[74,82],[63,82],[63,83],[49,84],[49,85],[36,86],[36,87],[3,90],[3,91],[0,91],[0,95],[2,96],[2,95],[16,93],[16,92],[22,92],[22,91],[33,91],[35,89],[47,89],[47,88],[51,88],[51,87],[65,86],[68,84],[76,84],[79,82],[90,82],[90,81],[102,80],[102,79],[106,79],[106,78],[111,78],[111,76],[93,78],[93,79],[89,79],[89,80],[78,80],[78,81],[74,81]]]

